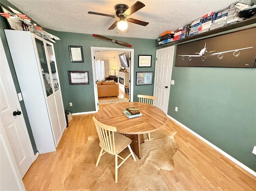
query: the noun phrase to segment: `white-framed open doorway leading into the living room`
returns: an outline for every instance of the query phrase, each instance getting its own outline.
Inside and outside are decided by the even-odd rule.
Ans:
[[[128,67],[123,67],[120,63],[119,54],[125,53]],[[98,104],[101,100],[110,100],[110,99],[124,99],[133,101],[133,71],[134,71],[134,49],[126,48],[107,48],[107,47],[91,47],[91,56],[92,56],[92,71],[93,71],[93,80],[94,80],[94,97],[95,97],[95,107],[98,110]],[[129,59],[130,58],[130,59]],[[110,75],[116,75],[117,83],[119,86],[119,95],[113,97],[98,97],[97,83],[100,83],[98,75],[96,75],[96,65],[95,61],[97,60],[108,60],[110,62]],[[126,72],[119,72],[120,69],[126,69]],[[126,84],[122,83],[122,75],[126,76]],[[121,76],[121,77],[120,77]],[[119,80],[121,79],[121,81]],[[98,80],[98,81],[97,81]],[[102,79],[104,81],[105,79]]]

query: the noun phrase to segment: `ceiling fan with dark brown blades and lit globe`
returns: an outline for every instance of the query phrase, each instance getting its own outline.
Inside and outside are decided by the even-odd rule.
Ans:
[[[114,22],[114,24],[112,24],[112,26],[110,26],[110,28],[108,28],[108,30],[112,30],[112,29],[116,28],[116,26],[117,26],[117,28],[119,30],[122,30],[122,31],[127,30],[127,32],[128,32],[128,23],[127,22],[131,22],[134,24],[142,25],[142,26],[148,25],[148,22],[136,20],[133,18],[126,18],[126,17],[130,16],[131,14],[135,13],[136,11],[140,10],[144,6],[145,6],[145,4],[143,4],[140,1],[137,1],[130,7],[128,7],[125,4],[118,4],[115,6],[116,16],[103,14],[103,13],[97,13],[97,12],[91,12],[91,11],[89,11],[88,13],[94,14],[94,15],[112,17],[112,18],[119,18],[119,20]],[[118,30],[117,30],[117,33],[118,33]]]

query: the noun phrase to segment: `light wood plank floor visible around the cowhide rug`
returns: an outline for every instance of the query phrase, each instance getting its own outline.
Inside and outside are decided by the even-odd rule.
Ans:
[[[100,105],[100,109],[104,106]],[[76,158],[74,148],[85,144],[88,136],[96,134],[92,116],[96,114],[73,116],[57,151],[38,156],[23,178],[27,191],[62,190]],[[174,156],[174,169],[161,170],[162,178],[170,191],[256,190],[256,177],[175,122],[172,122],[171,128],[177,131],[174,139],[178,152]]]

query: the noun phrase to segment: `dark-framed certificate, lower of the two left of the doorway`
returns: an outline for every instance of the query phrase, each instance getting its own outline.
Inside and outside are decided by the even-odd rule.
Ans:
[[[88,71],[68,71],[69,85],[89,85]]]

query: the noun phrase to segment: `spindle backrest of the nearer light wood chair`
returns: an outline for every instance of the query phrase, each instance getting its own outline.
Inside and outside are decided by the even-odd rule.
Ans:
[[[100,147],[110,154],[116,153],[114,132],[116,127],[105,125],[92,116],[100,139]]]

